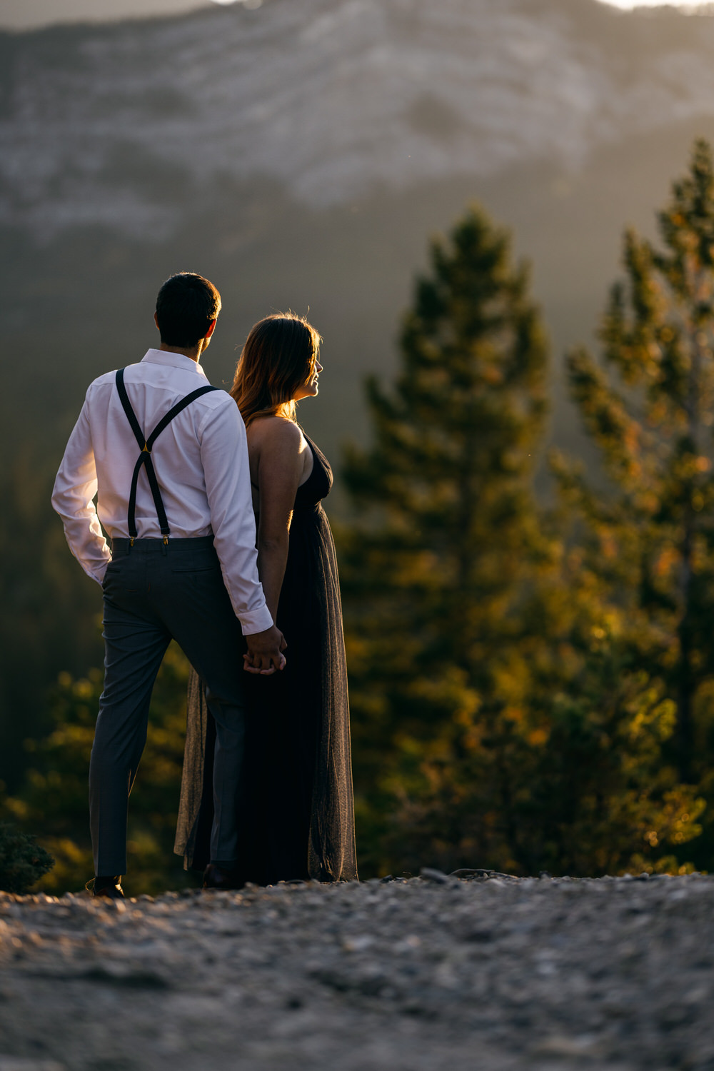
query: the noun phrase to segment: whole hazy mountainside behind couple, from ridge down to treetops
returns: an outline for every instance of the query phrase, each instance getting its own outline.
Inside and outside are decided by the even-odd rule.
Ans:
[[[426,237],[474,197],[533,259],[557,347],[586,337],[622,226],[714,130],[712,46],[714,18],[597,0],[265,0],[0,35],[5,333],[66,404],[57,441],[180,268],[225,291],[219,378],[258,316],[309,307],[334,373],[313,416],[333,449],[361,434]]]

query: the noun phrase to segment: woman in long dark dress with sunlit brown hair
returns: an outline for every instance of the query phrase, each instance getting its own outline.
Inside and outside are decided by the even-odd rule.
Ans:
[[[230,876],[233,887],[356,878],[339,580],[321,504],[332,469],[295,422],[295,403],[318,393],[320,342],[307,320],[292,313],[260,320],[230,392],[247,433],[258,571],[288,645],[282,673],[245,675],[244,840]],[[176,845],[186,868],[209,861],[213,739],[194,674]]]

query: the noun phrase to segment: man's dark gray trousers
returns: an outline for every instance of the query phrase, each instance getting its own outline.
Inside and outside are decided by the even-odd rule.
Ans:
[[[104,692],[89,770],[94,873],[126,873],[128,794],[147,741],[149,703],[170,640],[206,681],[215,719],[211,857],[238,854],[244,760],[245,640],[223,583],[213,537],[111,541],[104,590]]]

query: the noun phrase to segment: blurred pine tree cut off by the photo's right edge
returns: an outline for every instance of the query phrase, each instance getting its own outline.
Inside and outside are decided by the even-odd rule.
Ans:
[[[697,141],[658,215],[663,248],[628,230],[603,364],[569,356],[573,396],[614,491],[556,459],[593,534],[596,568],[629,614],[639,664],[677,705],[679,778],[707,774],[714,723],[714,171]],[[711,796],[711,786],[708,787]]]

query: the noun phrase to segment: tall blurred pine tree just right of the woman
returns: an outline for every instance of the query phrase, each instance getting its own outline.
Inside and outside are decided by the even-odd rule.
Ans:
[[[367,384],[375,443],[350,450],[345,473],[362,518],[343,533],[344,586],[358,782],[381,785],[371,805],[358,800],[373,841],[395,797],[407,814],[428,795],[434,761],[445,770],[438,791],[459,795],[467,758],[485,757],[484,734],[503,759],[482,763],[484,796],[499,800],[499,823],[515,821],[505,756],[529,679],[520,603],[550,553],[530,486],[547,345],[528,268],[512,265],[507,233],[478,208],[432,243],[401,358],[393,392]],[[443,835],[455,846],[458,810],[440,817],[453,815],[458,828]],[[492,816],[482,818],[472,839],[483,856]]]

